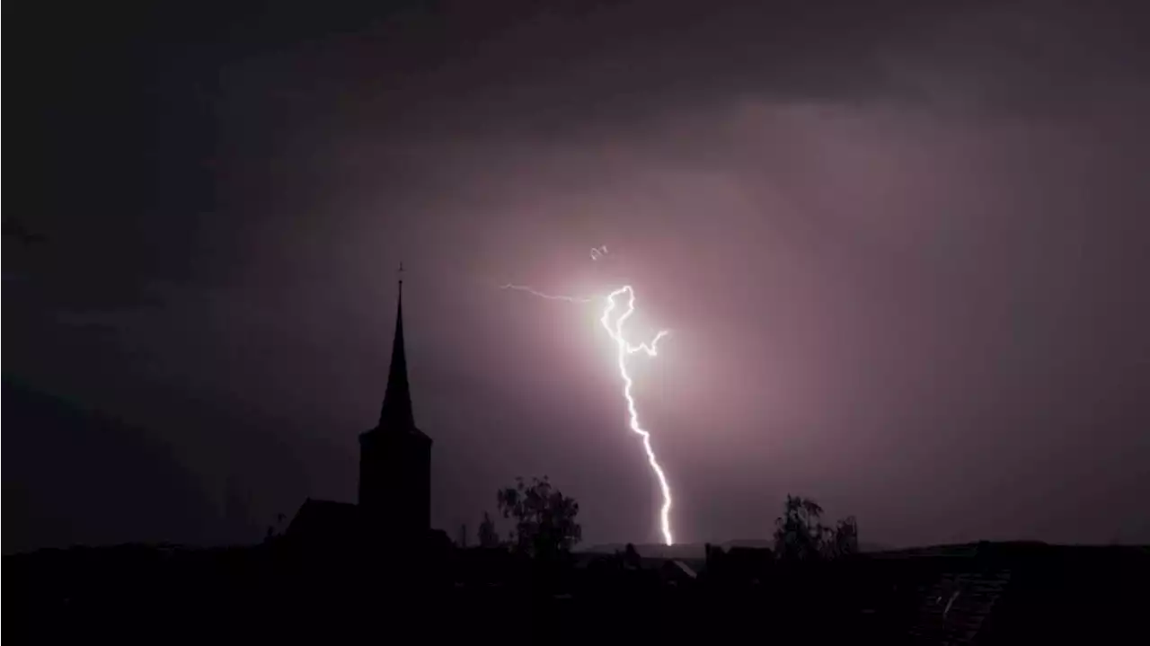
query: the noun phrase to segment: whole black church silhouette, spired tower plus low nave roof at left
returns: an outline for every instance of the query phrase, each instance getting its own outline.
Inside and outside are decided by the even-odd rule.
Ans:
[[[404,348],[404,280],[399,280],[388,386],[376,425],[359,437],[359,502],[304,501],[285,532],[315,548],[420,547],[446,540],[431,530],[431,438],[415,425]]]

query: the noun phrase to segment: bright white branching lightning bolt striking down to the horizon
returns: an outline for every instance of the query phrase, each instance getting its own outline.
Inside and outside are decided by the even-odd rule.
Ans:
[[[527,292],[540,299],[559,300],[573,303],[589,303],[599,300],[585,297],[549,294],[527,285],[505,284],[500,289]],[[614,313],[618,307],[615,299],[624,294],[627,297],[627,310],[615,317],[614,324],[612,324],[612,313]],[[674,537],[670,531],[670,484],[668,484],[667,475],[664,472],[662,467],[659,466],[659,460],[656,456],[654,448],[651,446],[651,432],[645,430],[639,424],[638,407],[635,403],[635,398],[631,395],[631,386],[634,386],[635,382],[627,371],[628,356],[638,352],[642,352],[647,356],[658,356],[659,340],[666,337],[669,332],[667,330],[660,330],[654,338],[651,339],[651,343],[632,345],[627,341],[627,337],[623,334],[623,324],[627,323],[627,320],[630,318],[632,314],[635,314],[635,289],[630,285],[623,285],[622,287],[619,287],[607,294],[606,299],[603,300],[606,301],[606,307],[604,307],[603,316],[599,318],[599,323],[603,325],[603,329],[607,331],[611,340],[615,341],[615,359],[619,366],[619,376],[623,380],[623,399],[627,401],[628,426],[632,432],[643,438],[643,451],[646,452],[647,463],[651,466],[651,470],[654,472],[656,478],[658,478],[659,489],[662,491],[662,507],[659,510],[659,525],[662,531],[662,539],[667,545],[674,545]]]

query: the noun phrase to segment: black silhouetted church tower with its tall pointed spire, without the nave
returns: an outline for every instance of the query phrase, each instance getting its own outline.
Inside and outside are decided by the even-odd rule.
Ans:
[[[431,438],[415,428],[412,412],[402,278],[379,423],[360,434],[359,506],[365,520],[388,537],[419,540],[431,528]]]

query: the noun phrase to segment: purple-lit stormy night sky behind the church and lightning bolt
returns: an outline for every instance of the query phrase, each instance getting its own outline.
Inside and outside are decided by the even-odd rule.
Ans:
[[[0,428],[0,549],[354,500],[400,261],[451,536],[547,474],[658,539],[598,310],[499,290],[627,283],[681,541],[1150,541],[1135,2],[20,5],[0,374],[135,430]]]

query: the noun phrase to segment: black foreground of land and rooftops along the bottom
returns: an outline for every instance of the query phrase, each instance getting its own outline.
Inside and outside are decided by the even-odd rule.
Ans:
[[[787,563],[499,548],[121,546],[0,560],[5,643],[429,638],[1101,643],[1138,635],[1150,549],[976,544]],[[2,638],[0,638],[2,639]],[[867,641],[871,643],[871,641]]]

